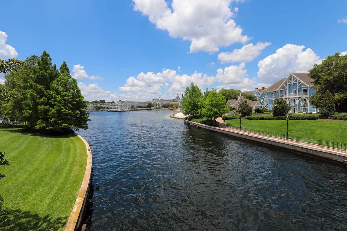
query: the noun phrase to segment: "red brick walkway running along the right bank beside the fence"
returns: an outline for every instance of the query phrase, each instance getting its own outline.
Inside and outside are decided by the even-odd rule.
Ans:
[[[216,121],[218,122],[218,127],[224,128],[224,129],[227,129],[227,130],[230,130],[230,131],[242,132],[242,133],[246,133],[246,134],[250,134],[251,133],[251,134],[254,134],[254,135],[259,135],[259,136],[264,137],[264,138],[271,138],[273,140],[286,141],[286,142],[293,143],[293,144],[303,144],[303,145],[306,145],[306,146],[311,146],[312,148],[321,148],[321,149],[341,152],[341,153],[344,153],[344,154],[347,153],[347,150],[331,148],[329,146],[323,146],[323,145],[320,145],[320,144],[313,144],[313,143],[307,143],[307,142],[302,142],[302,141],[289,140],[289,139],[285,139],[285,138],[281,138],[281,137],[269,136],[269,135],[263,135],[263,134],[259,134],[259,133],[253,133],[253,132],[239,130],[239,129],[232,128],[232,127],[229,127],[229,126],[225,125],[224,122],[223,122],[223,119],[221,117],[218,117],[216,119]]]

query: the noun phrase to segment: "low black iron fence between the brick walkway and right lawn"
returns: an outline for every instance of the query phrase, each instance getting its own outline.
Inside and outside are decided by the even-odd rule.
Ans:
[[[231,126],[231,125],[226,125],[226,126],[240,130],[240,127],[237,127],[237,126]],[[317,148],[324,148],[324,149],[329,149],[329,150],[333,150],[333,151],[339,151],[339,152],[347,153],[347,144],[336,143],[336,142],[325,141],[325,140],[311,139],[311,138],[300,137],[300,136],[295,136],[295,135],[290,135],[290,134],[288,135],[289,139],[287,139],[286,134],[281,134],[281,133],[276,133],[276,132],[266,132],[266,131],[261,131],[261,130],[255,130],[252,128],[245,128],[245,127],[242,127],[242,131],[246,131],[248,133],[255,133],[257,135],[262,135],[262,136],[276,137],[277,139],[285,140],[285,141],[290,140],[294,143],[299,143],[299,144],[305,144],[306,143],[310,146],[314,146]]]

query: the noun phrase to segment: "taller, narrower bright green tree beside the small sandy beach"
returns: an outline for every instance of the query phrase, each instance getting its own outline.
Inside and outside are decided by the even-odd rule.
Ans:
[[[181,108],[185,115],[196,116],[199,111],[199,102],[202,97],[202,92],[200,88],[191,83],[190,87],[187,87],[184,91],[184,96],[182,98]]]

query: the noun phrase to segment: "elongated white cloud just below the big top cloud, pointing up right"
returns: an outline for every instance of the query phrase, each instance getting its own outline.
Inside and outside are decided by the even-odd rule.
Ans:
[[[240,49],[234,49],[232,52],[222,52],[218,55],[218,59],[221,63],[227,62],[250,62],[254,60],[265,47],[269,46],[271,43],[249,43],[244,45]]]

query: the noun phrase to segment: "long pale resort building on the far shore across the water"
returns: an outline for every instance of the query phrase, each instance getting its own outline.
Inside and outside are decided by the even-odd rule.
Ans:
[[[162,107],[165,104],[178,104],[181,105],[182,99],[177,95],[174,99],[152,99],[152,101],[128,101],[118,100],[116,103],[106,104],[92,104],[87,103],[88,111],[108,111],[108,110],[119,110],[126,111],[137,108],[146,108],[148,103],[152,103],[154,107],[159,105]],[[101,107],[100,107],[101,106]]]

